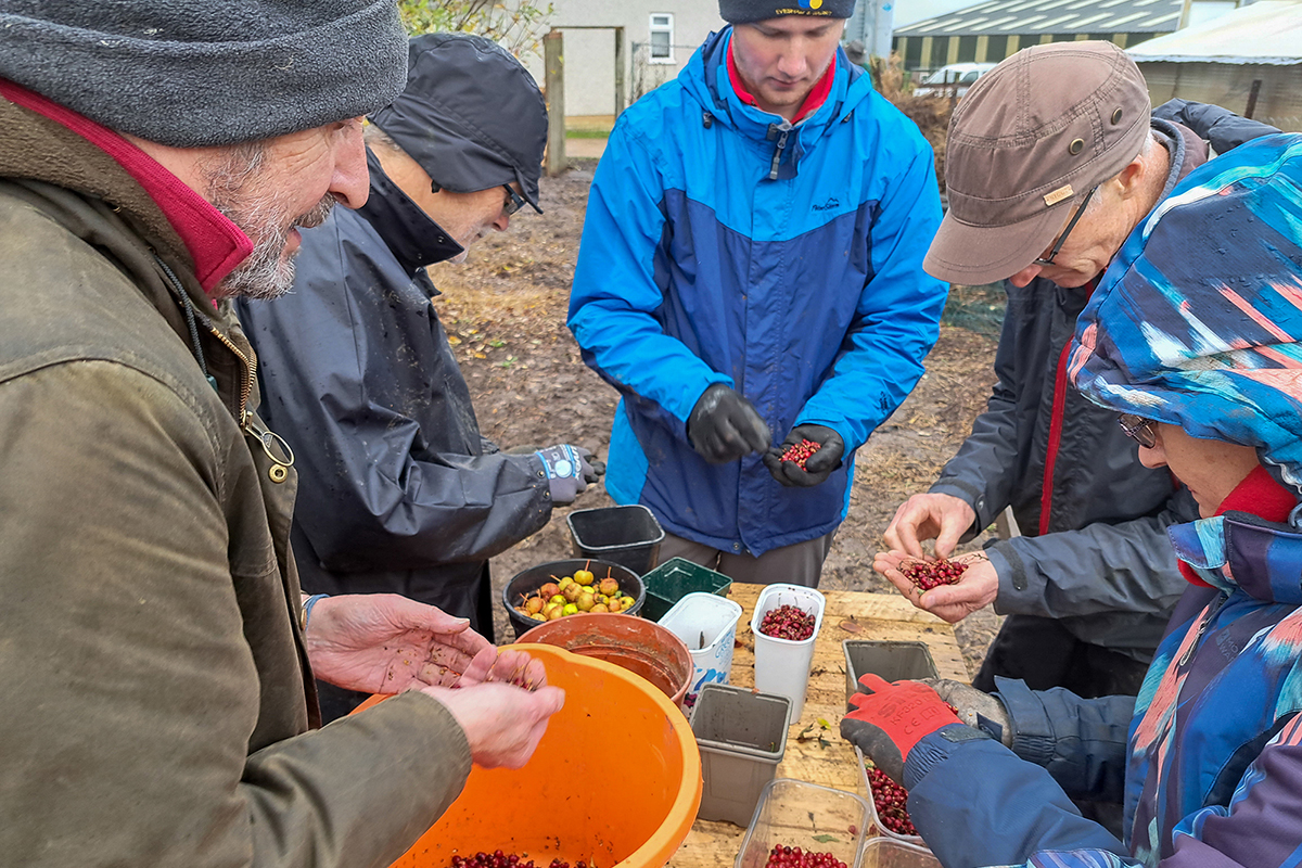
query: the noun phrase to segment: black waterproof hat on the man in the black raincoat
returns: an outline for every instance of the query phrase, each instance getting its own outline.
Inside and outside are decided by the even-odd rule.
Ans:
[[[518,60],[483,36],[411,39],[408,85],[371,116],[440,187],[475,193],[518,181],[539,213],[547,103]]]

